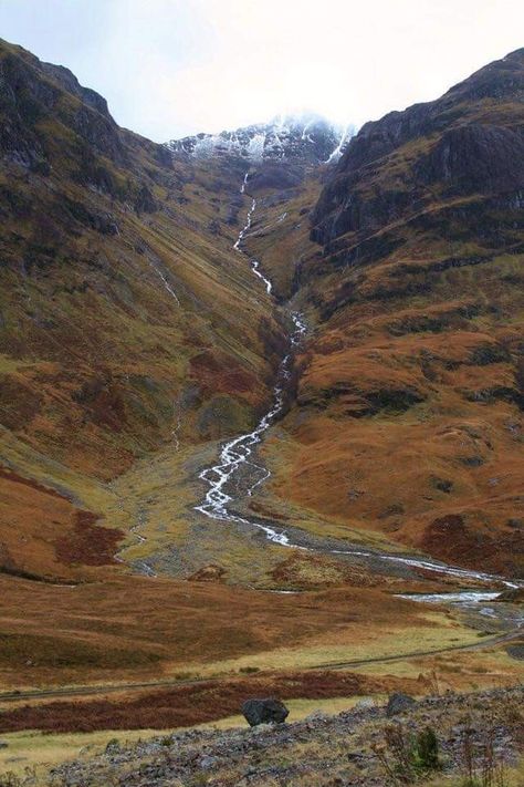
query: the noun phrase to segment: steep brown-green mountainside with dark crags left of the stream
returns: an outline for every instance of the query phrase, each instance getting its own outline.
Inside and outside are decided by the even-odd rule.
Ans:
[[[249,424],[281,332],[221,224],[242,169],[175,162],[65,69],[0,56],[2,425],[111,478],[179,423]]]

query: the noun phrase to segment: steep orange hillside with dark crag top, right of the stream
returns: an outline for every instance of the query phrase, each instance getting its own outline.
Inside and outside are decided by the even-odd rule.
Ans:
[[[366,124],[312,215],[280,499],[523,571],[524,50]],[[271,458],[270,458],[271,464]]]

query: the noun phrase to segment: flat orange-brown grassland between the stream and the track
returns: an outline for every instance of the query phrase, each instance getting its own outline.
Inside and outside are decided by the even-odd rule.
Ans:
[[[0,681],[14,687],[158,677],[328,632],[358,640],[371,623],[425,625],[426,612],[374,589],[285,596],[139,577],[77,587],[0,577]]]

